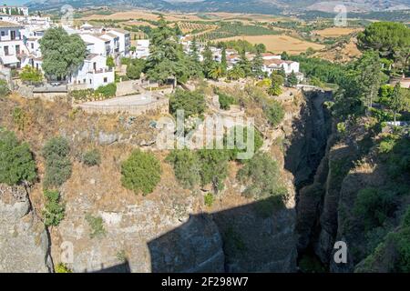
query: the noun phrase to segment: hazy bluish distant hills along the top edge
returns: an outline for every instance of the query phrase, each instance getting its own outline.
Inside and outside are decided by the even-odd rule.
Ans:
[[[279,14],[303,11],[333,13],[335,5],[345,5],[350,12],[371,12],[410,9],[410,0],[34,0],[28,2],[35,10],[56,9],[62,5],[129,6],[162,11],[232,12]]]

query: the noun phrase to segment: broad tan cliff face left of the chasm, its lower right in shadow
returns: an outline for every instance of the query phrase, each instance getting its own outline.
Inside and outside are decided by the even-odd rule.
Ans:
[[[307,107],[303,107],[302,115],[313,110],[312,118],[324,117],[320,112],[324,99],[303,101]],[[42,108],[41,104],[37,106]],[[270,129],[272,135],[266,135],[268,146],[263,150],[278,160],[288,197],[285,207],[274,209],[268,216],[261,215],[261,208],[266,207],[264,201],[242,196],[244,186],[235,177],[241,165],[234,162],[230,164],[225,190],[216,196],[212,207],[204,205],[206,190],[179,186],[171,166],[164,161],[167,152],[154,153],[161,162],[162,176],[153,193],[138,196],[121,186],[121,161],[141,141],[149,141],[155,134],[146,129],[148,118],[120,121],[120,125],[117,119],[108,120],[114,124],[110,128],[104,118],[99,120],[94,115],[77,113],[79,117],[71,120],[65,112],[55,116],[56,122],[51,118],[54,112],[46,112],[45,116],[51,117],[38,118],[30,142],[35,153],[57,133],[70,142],[72,176],[59,189],[66,215],[59,226],[49,229],[48,239],[28,196],[10,200],[0,194],[0,271],[52,271],[48,250],[57,265],[67,259],[67,246],[72,246],[72,261],[63,263],[74,272],[295,272],[296,199],[292,173],[284,169],[283,141],[293,136],[297,128],[294,124],[302,121],[300,103],[291,100],[286,106],[285,120],[278,128]],[[41,124],[44,120],[47,126]],[[311,123],[309,127],[313,125],[313,120],[306,120]],[[324,125],[321,120],[319,127]],[[96,128],[90,127],[92,124]],[[43,127],[46,135],[37,135]],[[312,141],[321,139],[317,136],[322,135],[323,128],[311,129]],[[131,131],[132,138],[128,137]],[[123,136],[101,132],[120,132]],[[300,147],[297,155],[304,156],[301,164],[294,164],[298,173],[302,173],[304,165],[317,163],[320,151],[315,146],[322,147],[321,143]],[[76,161],[74,156],[83,153],[87,146],[97,146],[101,151],[100,166],[87,167]],[[301,153],[310,150],[314,150],[313,156]],[[40,165],[40,178],[42,169]],[[42,190],[38,183],[30,193],[37,213],[43,208]],[[103,231],[99,236],[91,236],[96,226],[87,221],[87,216],[101,217]]]

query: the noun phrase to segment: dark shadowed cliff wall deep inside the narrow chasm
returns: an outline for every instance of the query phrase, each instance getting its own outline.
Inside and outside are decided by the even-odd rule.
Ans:
[[[309,91],[292,131],[287,136],[285,167],[294,176],[296,195],[297,248],[303,252],[320,229],[324,182],[328,172],[328,153],[332,141],[332,118],[324,103],[332,99],[330,92]],[[324,157],[323,157],[324,156]],[[311,185],[310,185],[311,184]],[[309,186],[305,186],[309,185]]]

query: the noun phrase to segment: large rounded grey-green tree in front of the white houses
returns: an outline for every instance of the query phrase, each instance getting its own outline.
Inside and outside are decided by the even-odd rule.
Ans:
[[[86,44],[79,35],[68,35],[62,27],[49,28],[39,42],[42,67],[50,78],[65,79],[84,63]]]

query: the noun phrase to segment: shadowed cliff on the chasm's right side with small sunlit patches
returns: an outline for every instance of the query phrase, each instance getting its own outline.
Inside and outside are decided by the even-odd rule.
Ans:
[[[364,117],[347,123],[345,134],[331,135],[313,184],[299,192],[299,250],[312,247],[331,272],[392,271],[396,259],[395,241],[384,241],[384,237],[389,231],[400,232],[407,196],[395,196],[396,208],[386,216],[383,227],[366,230],[361,218],[364,214],[354,213],[361,190],[383,189],[395,183],[377,151],[375,141],[380,136],[372,125],[374,120]],[[333,259],[336,241],[348,247],[346,264]],[[384,244],[376,248],[381,242]]]

